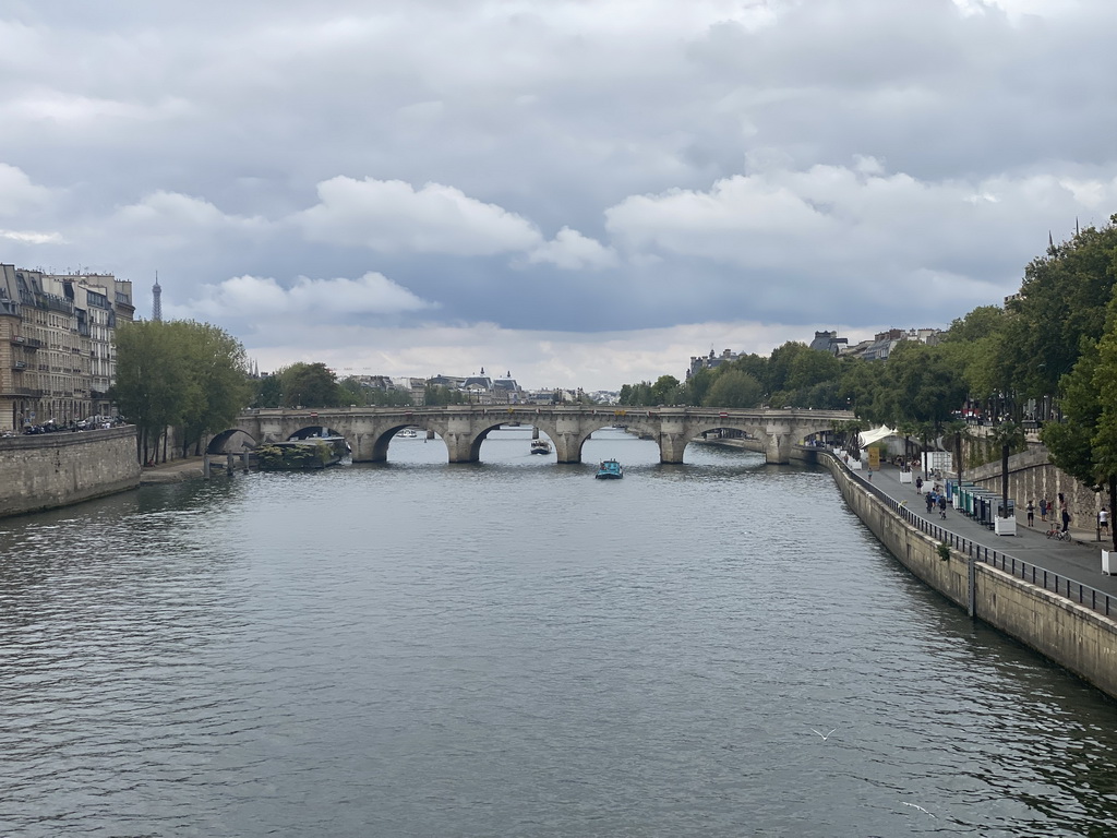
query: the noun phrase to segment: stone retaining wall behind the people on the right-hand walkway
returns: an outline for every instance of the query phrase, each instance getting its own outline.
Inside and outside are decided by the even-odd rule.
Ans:
[[[962,477],[968,483],[1000,494],[1001,460],[966,469]],[[1046,497],[1058,504],[1060,492],[1067,498],[1067,507],[1076,522],[1075,526],[1083,530],[1094,526],[1098,520],[1098,510],[1109,504],[1104,492],[1094,492],[1066,472],[1056,468],[1043,445],[1031,444],[1027,451],[1009,457],[1009,497],[1016,501],[1018,518],[1023,520],[1024,507],[1029,501],[1033,501],[1035,520],[1039,521],[1040,498]]]

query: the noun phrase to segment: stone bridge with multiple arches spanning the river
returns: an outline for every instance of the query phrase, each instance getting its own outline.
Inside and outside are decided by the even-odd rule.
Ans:
[[[582,446],[601,428],[624,426],[659,444],[661,463],[681,463],[682,450],[695,437],[719,429],[744,431],[757,439],[768,463],[787,463],[792,446],[832,429],[853,415],[844,410],[613,408],[593,404],[480,406],[447,404],[422,408],[281,408],[248,410],[237,426],[217,435],[216,453],[235,434],[256,442],[290,439],[309,428],[328,428],[345,437],[354,463],[388,459],[388,446],[403,428],[422,428],[442,438],[450,463],[476,463],[481,442],[502,425],[534,426],[554,444],[560,463],[581,463]]]

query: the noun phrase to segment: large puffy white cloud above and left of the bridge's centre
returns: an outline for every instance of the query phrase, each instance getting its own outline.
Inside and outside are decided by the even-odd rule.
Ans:
[[[491,256],[542,240],[516,213],[441,183],[417,190],[399,180],[338,177],[318,184],[318,199],[294,219],[313,241],[393,254]]]

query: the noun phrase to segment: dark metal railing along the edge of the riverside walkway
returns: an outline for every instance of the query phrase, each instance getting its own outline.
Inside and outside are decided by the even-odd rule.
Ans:
[[[824,448],[820,448],[818,450],[821,454],[830,456],[834,463],[838,463],[850,475],[853,475],[853,470],[836,457],[832,451]],[[866,479],[860,475],[858,475],[858,477],[860,478],[860,485],[862,488],[872,494],[878,501],[891,510],[907,524],[929,535],[939,543],[949,544],[951,547],[957,552],[967,556],[973,556],[975,561],[984,562],[991,568],[1004,571],[1005,573],[1023,580],[1029,584],[1033,584],[1037,588],[1051,591],[1059,597],[1069,599],[1071,602],[1085,606],[1097,613],[1105,615],[1106,617],[1117,613],[1117,597],[1106,593],[1105,591],[1099,591],[1097,588],[1083,584],[1082,582],[1078,582],[1069,577],[1056,573],[1054,571],[1050,571],[1047,568],[1041,568],[1030,562],[1025,562],[1010,555],[1009,553],[1000,550],[993,550],[983,544],[977,544],[970,539],[965,539],[957,533],[953,533],[949,530],[919,516],[915,510],[909,508],[905,503],[888,496],[884,491],[873,486],[871,480]]]

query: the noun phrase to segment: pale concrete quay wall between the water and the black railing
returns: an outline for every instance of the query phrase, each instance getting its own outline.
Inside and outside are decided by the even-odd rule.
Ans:
[[[970,603],[968,556],[909,525],[833,457],[819,456],[849,507],[896,559],[962,608]],[[983,562],[974,565],[974,617],[1117,698],[1117,622]]]

